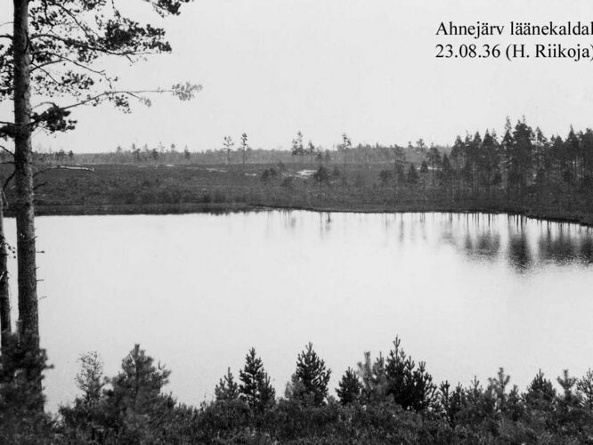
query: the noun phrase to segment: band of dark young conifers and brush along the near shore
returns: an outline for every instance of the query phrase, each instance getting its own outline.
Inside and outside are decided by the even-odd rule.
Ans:
[[[18,344],[9,347],[19,349]],[[593,372],[568,371],[553,383],[541,372],[520,392],[500,368],[484,384],[436,384],[426,363],[398,338],[385,356],[366,352],[330,394],[327,367],[313,345],[296,358],[283,396],[251,349],[238,378],[229,368],[215,400],[199,408],[164,392],[170,371],[139,345],[116,376],[96,352],[80,358],[79,395],[58,415],[35,406],[37,393],[10,375],[23,362],[45,369],[43,353],[3,356],[2,443],[591,443]]]

